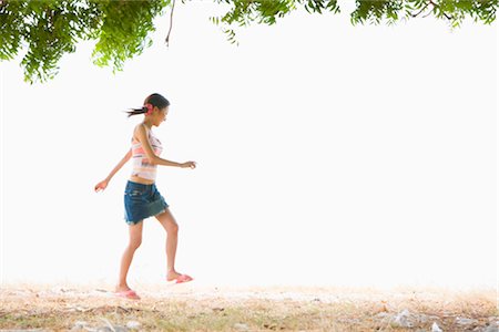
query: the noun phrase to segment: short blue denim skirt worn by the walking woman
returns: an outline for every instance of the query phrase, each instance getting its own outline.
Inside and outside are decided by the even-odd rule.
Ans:
[[[169,204],[157,191],[156,184],[144,185],[129,180],[124,190],[124,220],[135,225],[145,218],[164,212]]]

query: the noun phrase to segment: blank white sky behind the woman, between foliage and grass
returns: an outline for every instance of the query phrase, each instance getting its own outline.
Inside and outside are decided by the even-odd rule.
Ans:
[[[93,187],[142,121],[121,111],[159,92],[162,157],[197,162],[156,185],[198,284],[496,287],[497,23],[353,27],[343,8],[237,29],[237,48],[208,21],[223,8],[179,3],[170,49],[164,15],[115,76],[89,42],[43,85],[2,62],[2,282],[118,280],[131,164]],[[144,222],[132,287],[165,276]]]

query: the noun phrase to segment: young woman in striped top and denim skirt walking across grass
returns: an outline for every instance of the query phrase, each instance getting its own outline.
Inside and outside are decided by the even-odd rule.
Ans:
[[[177,245],[179,225],[169,209],[169,204],[157,190],[154,180],[157,165],[195,168],[195,162],[175,163],[160,158],[162,145],[152,132],[153,126],[160,126],[166,120],[170,102],[161,94],[153,93],[144,101],[141,108],[131,108],[129,117],[144,114],[142,123],[133,131],[132,147],[123,159],[111,170],[109,176],[95,185],[95,191],[104,190],[114,174],[133,158],[133,170],[124,189],[124,220],[129,225],[130,242],[121,258],[120,278],[115,287],[115,294],[128,299],[140,297],[126,283],[126,273],[135,250],[142,242],[143,220],[154,216],[166,230],[166,280],[176,283],[193,280],[187,274],[175,271],[175,252]]]

